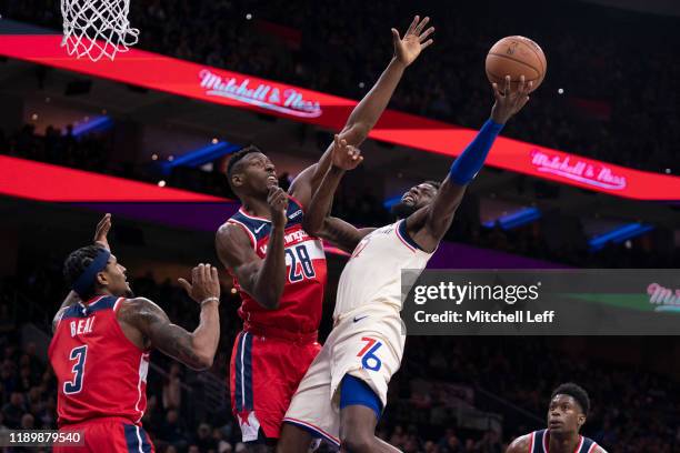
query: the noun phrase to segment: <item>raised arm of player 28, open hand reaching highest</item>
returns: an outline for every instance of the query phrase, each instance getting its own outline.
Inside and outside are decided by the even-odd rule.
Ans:
[[[404,69],[416,61],[424,48],[432,43],[432,40],[428,37],[434,32],[434,28],[430,27],[423,32],[429,21],[430,18],[420,20],[420,17],[416,16],[403,38],[399,37],[396,29],[392,29],[394,56],[373,88],[352,110],[342,128],[340,138],[346,140],[348,144],[358,147],[366,140],[390,102]],[[321,183],[321,179],[330,168],[331,150],[332,144],[328,147],[319,162],[303,170],[290,187],[290,193],[300,200],[304,207],[309,204],[312,194]]]

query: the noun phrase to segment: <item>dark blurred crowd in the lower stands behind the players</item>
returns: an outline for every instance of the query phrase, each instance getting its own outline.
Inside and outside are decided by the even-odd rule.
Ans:
[[[0,432],[56,426],[54,375],[38,352],[40,336],[27,335],[21,326],[32,322],[48,338],[58,294],[66,293],[58,271],[54,262],[0,281]],[[196,303],[169,281],[156,282],[149,273],[133,278],[132,288],[180,325],[196,325]],[[221,342],[210,371],[196,373],[152,354],[143,423],[160,453],[243,451],[226,389],[231,345],[240,329],[238,304],[237,295],[223,291]],[[42,322],[27,314],[30,305],[46,313]],[[324,330],[322,336],[327,334]],[[516,436],[544,426],[550,393],[566,381],[590,393],[592,411],[583,434],[610,452],[680,452],[678,386],[642,365],[601,362],[570,352],[556,338],[410,336],[407,343],[378,430],[407,453],[504,452]],[[648,348],[654,344],[661,345],[662,339]],[[499,423],[471,425],[464,415],[470,409]]]

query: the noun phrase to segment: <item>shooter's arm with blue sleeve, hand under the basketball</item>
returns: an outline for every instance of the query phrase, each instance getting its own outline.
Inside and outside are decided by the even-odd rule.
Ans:
[[[411,238],[426,251],[437,249],[439,241],[451,226],[453,214],[462,200],[468,184],[481,170],[491,145],[506,122],[529,101],[532,82],[524,84],[522,76],[518,91],[510,91],[510,77],[501,93],[493,83],[496,103],[491,118],[480,129],[472,142],[456,159],[449,174],[443,180],[432,203],[420,209],[407,219],[407,229]]]

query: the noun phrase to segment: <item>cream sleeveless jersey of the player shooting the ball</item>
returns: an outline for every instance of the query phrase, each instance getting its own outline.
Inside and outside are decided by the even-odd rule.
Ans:
[[[432,253],[409,236],[406,220],[382,226],[359,242],[338,284],[333,318],[363,305],[401,311],[401,270],[422,271]]]

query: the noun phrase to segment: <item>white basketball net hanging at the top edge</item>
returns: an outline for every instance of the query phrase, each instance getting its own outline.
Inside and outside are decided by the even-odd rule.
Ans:
[[[130,0],[61,0],[61,46],[77,58],[113,60],[139,39],[139,30],[130,28],[129,12]]]

